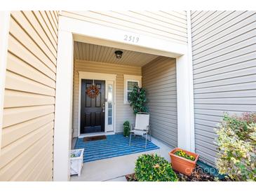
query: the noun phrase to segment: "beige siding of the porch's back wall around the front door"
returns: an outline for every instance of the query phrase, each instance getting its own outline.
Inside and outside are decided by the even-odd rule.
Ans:
[[[116,74],[116,132],[123,132],[123,122],[135,123],[135,116],[130,104],[123,104],[123,74],[141,76],[141,67],[101,62],[83,62],[76,60],[74,64],[74,95],[73,95],[73,129],[74,137],[78,135],[79,116],[79,71]]]

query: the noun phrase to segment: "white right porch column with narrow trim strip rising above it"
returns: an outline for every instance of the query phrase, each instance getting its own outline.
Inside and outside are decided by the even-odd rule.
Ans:
[[[187,39],[187,53],[176,58],[177,144],[182,149],[194,152],[194,84],[190,11],[187,11]]]

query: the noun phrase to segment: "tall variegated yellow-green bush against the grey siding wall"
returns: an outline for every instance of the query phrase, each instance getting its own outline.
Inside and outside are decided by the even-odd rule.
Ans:
[[[256,114],[224,114],[217,130],[220,174],[235,181],[256,181]]]

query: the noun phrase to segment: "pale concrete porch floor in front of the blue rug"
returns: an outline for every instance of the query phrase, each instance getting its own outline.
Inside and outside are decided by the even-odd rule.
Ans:
[[[73,175],[70,181],[126,181],[125,175],[134,172],[137,157],[144,153],[157,153],[170,162],[168,153],[173,148],[154,137],[152,137],[152,142],[160,149],[83,163],[81,176]]]

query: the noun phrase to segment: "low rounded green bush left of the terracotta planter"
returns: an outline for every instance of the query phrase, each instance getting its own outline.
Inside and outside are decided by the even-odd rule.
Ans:
[[[166,159],[157,154],[143,154],[135,164],[137,181],[177,181],[177,175]]]

